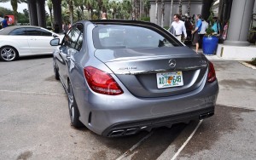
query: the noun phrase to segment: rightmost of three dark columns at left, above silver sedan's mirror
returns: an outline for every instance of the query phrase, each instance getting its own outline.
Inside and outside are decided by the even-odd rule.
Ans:
[[[61,0],[52,0],[52,6],[54,11],[54,26],[57,24],[62,32],[62,18],[61,18]]]

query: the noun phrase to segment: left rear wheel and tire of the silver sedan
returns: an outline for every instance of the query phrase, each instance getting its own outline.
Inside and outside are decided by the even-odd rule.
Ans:
[[[75,128],[84,127],[84,124],[79,121],[79,108],[73,96],[73,88],[70,82],[68,83],[67,97],[71,125],[73,125]]]

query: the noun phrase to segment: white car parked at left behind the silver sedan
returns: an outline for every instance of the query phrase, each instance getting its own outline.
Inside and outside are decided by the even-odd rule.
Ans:
[[[60,37],[39,26],[9,26],[0,30],[0,59],[17,60],[28,55],[52,54],[55,47],[49,42]],[[63,37],[63,36],[62,36]]]

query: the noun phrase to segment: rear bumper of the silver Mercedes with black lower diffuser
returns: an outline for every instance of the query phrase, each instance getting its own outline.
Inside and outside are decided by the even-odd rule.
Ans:
[[[212,116],[218,82],[205,83],[187,94],[161,98],[85,93],[84,89],[77,90],[80,121],[96,134],[119,136]]]

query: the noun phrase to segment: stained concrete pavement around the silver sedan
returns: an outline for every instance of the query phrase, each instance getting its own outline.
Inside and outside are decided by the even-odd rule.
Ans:
[[[0,159],[256,159],[256,71],[212,62],[220,87],[213,117],[105,138],[69,124],[51,56],[0,61]]]

